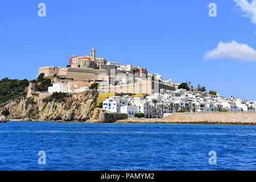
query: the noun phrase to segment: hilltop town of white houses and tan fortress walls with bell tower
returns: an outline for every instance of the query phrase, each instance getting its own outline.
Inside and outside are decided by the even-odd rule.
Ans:
[[[30,83],[28,97],[81,93],[97,84],[99,93],[112,93],[99,107],[110,113],[126,113],[129,118],[162,118],[177,112],[256,111],[256,101],[221,97],[214,91],[205,92],[200,85],[193,88],[190,83],[175,84],[146,68],[96,57],[94,48],[90,56],[72,55],[66,68],[39,68],[38,76],[42,74],[51,79],[52,86],[47,92],[38,93],[36,85]]]

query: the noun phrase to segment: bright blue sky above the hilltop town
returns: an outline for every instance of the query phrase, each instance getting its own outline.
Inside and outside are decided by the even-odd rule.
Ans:
[[[40,2],[46,4],[46,17],[38,16]],[[211,2],[217,17],[208,15]],[[164,79],[191,81],[221,96],[256,100],[255,17],[237,3],[1,0],[0,78],[34,79],[39,67],[65,67],[71,55],[89,55],[94,47],[96,56],[108,61],[146,67]],[[213,52],[204,59],[221,41],[229,48],[233,40],[237,47],[231,53]],[[242,45],[252,49],[250,60],[232,57]]]

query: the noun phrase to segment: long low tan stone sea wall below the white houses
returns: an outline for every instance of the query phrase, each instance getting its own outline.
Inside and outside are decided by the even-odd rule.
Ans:
[[[175,113],[163,118],[163,121],[256,123],[256,112]]]

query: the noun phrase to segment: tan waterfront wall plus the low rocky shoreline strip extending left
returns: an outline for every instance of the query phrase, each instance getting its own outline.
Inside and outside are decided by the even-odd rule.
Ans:
[[[194,123],[218,125],[256,125],[255,112],[175,113],[162,119],[123,119],[118,123]]]

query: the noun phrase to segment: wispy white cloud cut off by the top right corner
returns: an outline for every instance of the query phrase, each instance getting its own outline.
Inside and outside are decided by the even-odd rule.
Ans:
[[[251,23],[256,24],[256,0],[248,2],[247,0],[233,0],[236,2],[237,6],[240,7],[243,16],[249,17],[251,19]]]

